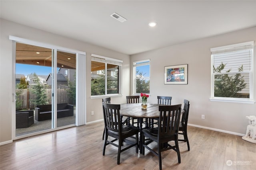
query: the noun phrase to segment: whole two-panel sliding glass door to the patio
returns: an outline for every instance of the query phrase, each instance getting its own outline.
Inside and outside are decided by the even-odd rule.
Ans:
[[[16,137],[76,122],[76,54],[16,43]]]

